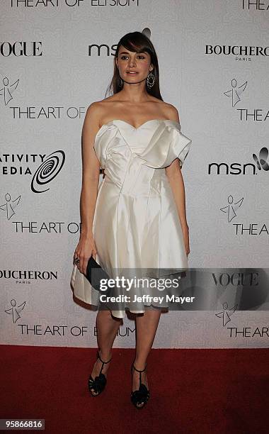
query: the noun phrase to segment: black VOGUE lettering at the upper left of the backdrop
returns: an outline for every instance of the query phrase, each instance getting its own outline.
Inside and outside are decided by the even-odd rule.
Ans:
[[[33,57],[42,56],[42,42],[35,41],[23,42],[16,41],[9,43],[8,41],[0,42],[0,55],[3,57],[16,56],[16,57]]]

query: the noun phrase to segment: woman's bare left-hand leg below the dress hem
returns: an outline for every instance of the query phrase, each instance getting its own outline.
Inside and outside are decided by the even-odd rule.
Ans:
[[[112,316],[109,310],[98,311],[96,316],[96,328],[97,328],[97,343],[99,354],[101,359],[104,362],[110,360],[112,356],[112,347],[117,335],[118,329],[120,327],[120,319]],[[103,365],[102,374],[106,374],[108,371],[110,363],[105,363]],[[100,359],[97,359],[94,366],[93,371],[91,373],[91,377],[95,379],[95,377],[100,373],[102,367],[102,362]]]

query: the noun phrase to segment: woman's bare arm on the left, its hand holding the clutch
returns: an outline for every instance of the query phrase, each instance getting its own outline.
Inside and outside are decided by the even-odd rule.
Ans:
[[[81,235],[74,257],[79,257],[79,271],[86,274],[88,259],[96,259],[93,239],[93,216],[98,194],[100,162],[93,148],[99,130],[100,108],[98,102],[88,106],[82,128],[82,187],[80,197]]]

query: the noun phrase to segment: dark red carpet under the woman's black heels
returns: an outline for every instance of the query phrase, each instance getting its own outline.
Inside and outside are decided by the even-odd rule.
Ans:
[[[133,357],[113,349],[108,384],[93,398],[95,349],[1,345],[1,418],[44,418],[53,434],[269,432],[268,350],[151,350],[142,410],[130,402]]]

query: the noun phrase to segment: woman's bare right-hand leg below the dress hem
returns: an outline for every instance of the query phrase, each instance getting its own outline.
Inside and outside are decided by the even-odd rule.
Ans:
[[[147,357],[154,342],[160,316],[160,308],[146,308],[142,316],[139,314],[136,315],[135,323],[137,343],[134,365],[139,370],[144,369],[147,363]],[[135,371],[135,369],[132,371],[132,390],[135,391],[139,389],[139,372]],[[146,372],[142,372],[142,383],[144,383],[148,388]]]

